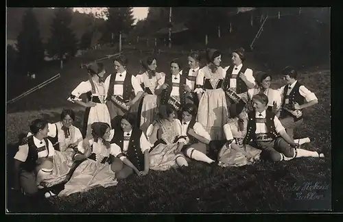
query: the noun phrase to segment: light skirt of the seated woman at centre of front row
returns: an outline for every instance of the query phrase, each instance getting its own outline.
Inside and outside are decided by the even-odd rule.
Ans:
[[[177,167],[176,157],[180,154],[178,143],[165,145],[158,144],[150,151],[150,169],[154,171],[167,171],[171,167]]]

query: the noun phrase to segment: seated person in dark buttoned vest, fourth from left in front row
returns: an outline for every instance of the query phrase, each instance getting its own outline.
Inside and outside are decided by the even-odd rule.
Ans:
[[[149,150],[151,144],[145,134],[136,127],[136,117],[132,113],[115,117],[114,129],[106,138],[110,141],[112,157],[111,169],[118,180],[125,179],[132,173],[147,175],[149,172]],[[87,139],[84,145],[88,146]]]

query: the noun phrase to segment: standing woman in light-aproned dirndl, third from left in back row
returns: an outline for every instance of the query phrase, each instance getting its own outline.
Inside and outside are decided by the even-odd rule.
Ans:
[[[147,57],[145,60],[141,60],[141,66],[145,70],[136,76],[141,88],[143,88],[143,98],[139,104],[138,109],[138,125],[141,130],[146,133],[147,127],[154,121],[156,117],[157,107],[158,107],[158,97],[155,94],[155,90],[161,87],[163,84],[164,73],[156,72],[156,58]]]

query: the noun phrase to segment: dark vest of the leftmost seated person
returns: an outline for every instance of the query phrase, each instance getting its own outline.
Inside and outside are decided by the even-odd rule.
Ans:
[[[47,156],[49,156],[49,141],[47,138],[44,138],[44,141],[47,149]],[[34,144],[34,136],[29,136],[29,138],[27,138],[27,145],[29,146],[29,152],[27,153],[26,161],[21,166],[25,171],[32,172],[36,167],[36,160],[38,160],[38,148]]]

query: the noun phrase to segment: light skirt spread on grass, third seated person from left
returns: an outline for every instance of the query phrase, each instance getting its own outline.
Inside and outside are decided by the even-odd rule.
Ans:
[[[72,193],[86,192],[97,186],[109,187],[118,184],[110,164],[102,164],[94,160],[84,160],[74,171],[69,182],[64,184],[58,196],[68,196]]]

